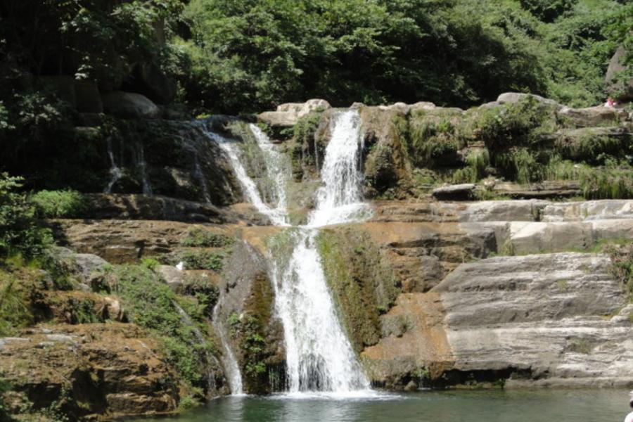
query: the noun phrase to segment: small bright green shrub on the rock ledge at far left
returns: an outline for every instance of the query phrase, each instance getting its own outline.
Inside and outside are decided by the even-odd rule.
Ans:
[[[75,218],[87,210],[84,195],[77,191],[39,191],[29,199],[39,218]]]

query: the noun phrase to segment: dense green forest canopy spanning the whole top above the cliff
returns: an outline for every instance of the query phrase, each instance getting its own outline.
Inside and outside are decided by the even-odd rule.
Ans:
[[[129,85],[136,63],[177,79],[179,101],[231,113],[309,97],[463,107],[502,91],[590,105],[604,98],[618,45],[631,63],[626,3],[9,0],[0,5],[0,132],[44,136],[74,118],[40,75],[109,91]]]

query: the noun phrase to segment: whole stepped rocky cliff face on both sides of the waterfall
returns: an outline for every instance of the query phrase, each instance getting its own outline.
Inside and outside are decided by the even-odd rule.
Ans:
[[[479,119],[490,117],[489,110],[504,110],[499,118],[509,118],[518,112],[507,105],[523,100],[504,94],[466,112],[430,103],[357,105],[373,216],[327,227],[317,243],[342,326],[374,386],[633,386],[627,170],[618,167],[605,176],[608,182],[620,177],[613,192],[623,199],[587,200],[595,196],[587,174],[523,180],[513,155],[531,151],[535,171],[544,171],[542,155],[577,155],[583,161],[576,165],[585,169],[592,159],[587,151],[617,155],[618,148],[630,148],[629,116],[537,98],[521,113],[546,110],[545,117],[534,117],[539,132],[504,132],[521,141],[495,145],[498,139],[486,132],[492,129]],[[331,113],[326,103],[313,101],[259,116],[272,132],[295,131],[276,142],[293,167],[288,202],[298,222],[314,207]],[[217,129],[241,144],[245,171],[264,187],[261,160],[243,123],[222,122]],[[549,132],[544,124],[552,124]],[[89,194],[90,206],[75,216],[81,219],[49,220],[60,244],[106,261],[77,255],[84,265],[75,269],[75,290],[33,290],[55,298],[39,300],[47,313],[40,312],[18,338],[0,340],[0,376],[17,391],[5,397],[11,409],[25,400],[47,408],[66,397],[63,409],[74,417],[160,414],[174,411],[184,397],[224,394],[230,374],[222,334],[246,392],[283,389],[285,343],[274,312],[269,245],[286,228],[271,226],[240,202],[243,186],[219,148],[200,143],[191,149],[175,132],[164,134],[156,144],[142,140],[145,165],[126,162],[129,146],[113,144],[115,159],[124,158],[117,162],[123,176],[113,193]],[[492,148],[509,161],[494,158]],[[615,168],[592,165],[595,172]],[[107,163],[102,167],[108,181],[114,173]],[[152,195],[141,193],[144,178]],[[468,183],[437,191],[448,181]],[[574,200],[565,200],[570,196]],[[139,262],[144,272],[130,270]],[[112,265],[127,273],[113,275]],[[168,286],[160,290],[160,303],[184,312],[174,319],[178,330],[191,334],[181,338],[187,347],[166,347],[164,327],[127,322],[135,312],[143,315],[131,298],[139,300],[147,290],[117,290],[117,282],[151,286],[151,292]],[[76,315],[79,296],[96,319]],[[129,307],[129,317],[106,296]],[[185,359],[188,354],[193,361]],[[59,373],[42,362],[58,366]]]

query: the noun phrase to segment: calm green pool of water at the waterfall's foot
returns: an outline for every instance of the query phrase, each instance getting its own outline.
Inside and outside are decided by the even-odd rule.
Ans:
[[[205,407],[181,414],[175,420],[621,422],[630,411],[628,400],[627,390],[426,391],[406,394],[378,393],[373,397],[356,398],[224,397],[212,400]]]

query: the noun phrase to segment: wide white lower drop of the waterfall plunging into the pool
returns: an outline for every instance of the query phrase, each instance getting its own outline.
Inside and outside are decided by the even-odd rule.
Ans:
[[[326,283],[314,229],[293,233],[286,265],[275,263],[275,307],[286,339],[290,392],[352,392],[369,380],[338,321]]]

